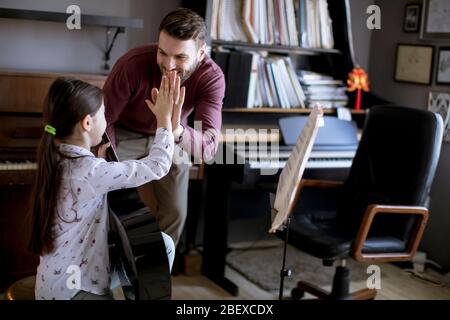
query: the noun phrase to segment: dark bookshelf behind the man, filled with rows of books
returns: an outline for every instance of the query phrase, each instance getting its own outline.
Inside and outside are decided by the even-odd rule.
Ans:
[[[347,77],[348,77],[348,73],[352,70],[352,68],[354,67],[354,61],[353,61],[353,43],[352,43],[352,35],[351,32],[349,30],[349,26],[351,25],[350,22],[350,17],[349,17],[349,12],[350,12],[350,4],[348,0],[327,0],[327,10],[325,10],[327,12],[327,14],[329,15],[330,20],[332,21],[331,25],[326,25],[325,28],[330,27],[332,30],[332,35],[333,35],[333,46],[329,46],[328,42],[320,42],[319,41],[319,46],[317,47],[317,41],[314,43],[312,43],[311,41],[306,41],[304,42],[303,38],[299,37],[298,39],[298,44],[299,45],[280,45],[281,41],[279,41],[281,39],[281,36],[278,36],[279,34],[281,34],[281,30],[282,29],[277,29],[279,27],[279,24],[277,24],[275,26],[275,24],[272,24],[272,27],[277,29],[277,31],[274,31],[273,35],[277,34],[277,37],[272,37],[272,43],[276,43],[276,44],[267,44],[267,37],[265,38],[266,40],[264,40],[264,38],[261,36],[261,33],[259,33],[259,40],[257,42],[259,43],[254,43],[254,39],[253,39],[253,43],[251,40],[251,37],[249,36],[249,32],[248,32],[248,20],[247,22],[245,22],[245,19],[248,19],[248,15],[246,15],[245,13],[245,7],[248,6],[248,2],[251,0],[240,0],[239,2],[236,2],[235,6],[235,12],[236,15],[240,15],[240,19],[237,19],[236,21],[240,20],[239,23],[242,23],[240,25],[240,27],[244,30],[244,34],[247,37],[247,41],[245,40],[240,40],[240,41],[230,41],[230,40],[223,40],[222,35],[231,35],[233,34],[233,31],[236,31],[236,28],[233,24],[228,24],[229,22],[229,18],[228,17],[223,17],[223,9],[226,7],[226,5],[222,6],[222,4],[224,3],[223,0],[201,0],[201,1],[193,1],[193,0],[184,0],[183,1],[183,5],[186,7],[190,7],[191,9],[194,9],[195,11],[197,11],[198,13],[200,13],[204,18],[205,21],[207,23],[207,28],[208,28],[208,45],[211,47],[212,49],[212,57],[214,60],[216,60],[216,63],[219,64],[219,66],[222,66],[219,63],[218,59],[223,59],[223,58],[219,58],[215,55],[215,53],[217,52],[230,52],[230,53],[239,53],[239,52],[252,52],[257,54],[257,55],[265,55],[268,54],[270,57],[271,56],[275,56],[275,57],[286,57],[288,59],[291,59],[292,61],[292,66],[294,67],[294,70],[297,71],[299,69],[301,70],[308,70],[308,71],[313,71],[313,72],[318,72],[321,74],[327,74],[329,76],[331,76],[333,79],[336,79],[338,81],[340,81],[341,83],[339,84],[339,86],[341,86],[341,92],[344,92],[344,85],[346,83]],[[318,0],[319,1],[319,0]],[[318,2],[317,1],[317,2]],[[286,21],[292,21],[292,19],[295,18],[295,25],[297,27],[297,32],[298,34],[301,34],[301,30],[302,30],[302,23],[301,20],[303,19],[303,21],[307,21],[310,19],[310,11],[309,10],[305,10],[305,9],[311,9],[311,7],[309,8],[305,8],[305,3],[307,2],[307,0],[293,0],[293,2],[290,2],[290,0],[286,0],[284,3],[284,5],[286,8],[285,11],[285,18]],[[219,5],[218,5],[219,3]],[[251,6],[255,6],[256,2],[252,2]],[[260,4],[261,2],[259,2],[259,6],[261,6]],[[270,7],[270,5],[268,5],[269,1],[265,2],[267,3],[267,7]],[[275,3],[279,3],[279,1],[274,1],[274,6]],[[291,15],[291,17],[289,18],[289,14],[287,13],[289,10],[289,5],[287,3],[294,3],[294,7],[295,7],[295,14]],[[301,4],[303,3],[303,4]],[[264,5],[263,5],[264,6]],[[217,8],[220,8],[221,11],[218,11]],[[293,7],[292,11],[293,11]],[[227,9],[229,10],[229,9]],[[256,11],[258,12],[258,14],[261,14],[261,12],[264,12],[266,15],[262,14],[261,17],[263,17],[262,19],[260,19],[260,27],[262,27],[263,25],[270,25],[269,20],[273,18],[273,16],[271,16],[270,14],[268,14],[267,12],[269,12],[269,10],[265,11],[266,9],[264,9],[263,11]],[[277,9],[275,9],[276,11]],[[280,10],[280,8],[278,8],[278,10]],[[300,12],[303,10],[303,15],[300,14]],[[214,14],[214,12],[216,12]],[[219,13],[217,13],[219,12]],[[234,12],[234,11],[233,11]],[[279,11],[278,11],[279,12]],[[228,13],[231,13],[231,11],[229,11]],[[226,14],[228,14],[226,13]],[[248,13],[248,11],[247,11]],[[252,13],[254,14],[254,13]],[[252,16],[253,17],[253,16]],[[301,17],[300,19],[298,17]],[[317,15],[316,15],[317,17]],[[252,18],[253,19],[253,18]],[[280,19],[280,17],[278,17],[278,19]],[[257,20],[257,19],[256,19]],[[310,19],[309,21],[312,21],[313,19]],[[261,22],[263,21],[263,22]],[[289,25],[289,21],[286,22],[286,25]],[[319,24],[321,24],[324,20],[321,20]],[[222,22],[224,22],[225,24],[221,24]],[[232,32],[222,32],[220,33],[220,29],[222,30],[227,30],[227,28],[224,28],[223,25],[226,26],[230,26],[230,30]],[[304,24],[306,25],[306,23]],[[215,27],[214,27],[215,26]],[[254,25],[253,25],[254,26]],[[292,25],[291,25],[292,26]],[[305,30],[309,30],[310,25],[307,25],[307,28],[303,28],[303,31]],[[270,28],[270,27],[268,27]],[[320,27],[322,28],[322,26]],[[274,30],[275,30],[274,29]],[[215,32],[213,32],[213,30],[215,30]],[[254,29],[256,30],[256,29]],[[286,30],[286,29],[284,29]],[[309,31],[308,31],[309,32]],[[288,32],[289,33],[289,32]],[[305,34],[305,32],[302,33],[303,35]],[[308,34],[308,38],[310,37],[310,34]],[[266,33],[267,35],[267,33]],[[291,33],[292,35],[292,33]],[[234,36],[233,36],[234,37]],[[321,39],[322,38],[322,34],[321,34]],[[226,37],[225,37],[226,38]],[[227,38],[228,39],[228,38]],[[287,38],[285,37],[285,40]],[[291,38],[289,38],[291,39]],[[317,38],[315,38],[317,40]],[[290,41],[290,40],[289,40]],[[290,43],[288,41],[288,43]],[[314,41],[313,41],[314,42]],[[328,44],[327,44],[328,43]],[[284,41],[284,44],[286,44],[286,41]],[[301,46],[301,44],[306,44],[306,46]],[[260,53],[261,52],[261,53]],[[265,52],[265,53],[262,53]],[[231,58],[229,58],[231,61]],[[246,64],[247,66],[250,64],[249,60],[251,60],[251,58],[246,58]],[[227,67],[229,67],[229,62],[227,61]],[[232,70],[239,70],[237,73],[244,73],[243,70],[239,67],[236,67],[238,63],[235,63],[233,65],[234,68],[232,68]],[[254,65],[252,65],[253,68]],[[249,69],[250,67],[247,67],[246,71]],[[259,67],[258,67],[259,68]],[[222,68],[224,69],[224,68]],[[269,68],[270,69],[270,68]],[[258,74],[260,71],[258,70]],[[225,76],[227,78],[227,73],[225,73]],[[270,71],[269,71],[270,73]],[[245,73],[247,74],[247,73]],[[259,77],[258,75],[258,77]],[[284,77],[283,77],[284,76]],[[290,74],[291,79],[292,79],[292,74]],[[234,83],[238,83],[238,85],[236,86],[247,86],[248,81],[247,80],[243,80],[244,78],[246,79],[247,76],[243,76],[243,77],[234,77],[234,79],[237,79],[238,81],[230,81],[231,85],[233,85]],[[269,76],[270,77],[270,76]],[[282,74],[282,77],[280,78],[280,75],[278,75],[278,79],[276,79],[274,77],[274,83],[277,83],[277,81],[286,81],[285,79],[287,78],[287,73],[284,72]],[[231,77],[230,77],[231,78]],[[258,82],[260,80],[257,80]],[[267,80],[266,80],[267,82]],[[231,86],[228,79],[227,79],[227,88],[230,88]],[[244,84],[243,84],[244,83]],[[272,83],[273,84],[273,83]],[[258,84],[257,84],[258,86]],[[303,86],[302,83],[302,90],[305,90],[305,87]],[[275,103],[274,104],[267,104],[267,103],[261,103],[261,101],[268,101],[267,99],[263,99],[261,100],[261,92],[264,89],[267,89],[267,86],[264,87],[263,85],[259,85],[259,93],[255,94],[256,96],[259,95],[259,99],[258,98],[254,98],[255,100],[257,100],[255,102],[255,104],[253,104],[253,99],[250,98],[243,98],[241,99],[242,101],[240,103],[239,99],[236,101],[236,99],[234,99],[234,97],[239,97],[241,96],[240,94],[230,94],[228,92],[228,97],[233,97],[232,99],[230,99],[230,101],[227,101],[227,92],[226,92],[226,97],[224,100],[224,107],[223,107],[223,114],[224,114],[224,121],[228,121],[228,119],[233,118],[233,117],[239,117],[240,119],[242,119],[242,121],[245,121],[246,118],[252,117],[252,116],[264,116],[266,115],[267,117],[272,117],[272,116],[276,116],[276,115],[296,115],[296,114],[308,114],[309,113],[309,109],[307,109],[307,105],[303,106],[301,103],[293,103],[296,100],[295,99],[289,99],[290,102],[288,103],[288,106],[286,106],[286,103],[284,104],[284,106],[281,103],[281,98],[280,95],[277,94],[277,97],[274,98],[274,91],[270,90],[270,92],[272,92],[272,100],[273,101],[277,101],[278,104]],[[230,90],[230,92],[236,92],[233,90]],[[237,91],[240,92],[240,91]],[[241,92],[244,92],[244,96],[250,96],[250,94],[247,93],[246,89],[242,89]],[[265,91],[267,92],[267,91]],[[292,92],[292,91],[291,91]],[[311,91],[310,91],[311,92]],[[298,90],[297,90],[298,93]],[[311,93],[310,93],[311,94]],[[267,94],[268,95],[268,94]],[[345,98],[345,95],[343,95],[343,97]],[[353,94],[347,94],[348,96],[348,103],[347,103],[347,107],[351,109],[352,105],[353,105]],[[289,96],[290,98],[292,98],[292,95]],[[298,99],[297,101],[300,102],[300,95],[297,95]],[[303,98],[305,96],[303,95]],[[317,95],[316,95],[317,97]],[[316,101],[322,101],[325,100],[327,98],[312,98],[311,103],[313,104]],[[319,99],[319,100],[317,100]],[[339,99],[339,98],[338,98]],[[330,115],[336,115],[336,107],[340,107],[345,105],[345,100],[346,99],[341,99],[341,100],[332,100],[333,102],[326,102],[328,103],[328,105],[324,104],[324,107],[326,107],[325,109],[325,113],[326,114],[330,114]],[[245,101],[247,101],[247,104],[245,103]],[[285,95],[285,99],[284,101],[286,102],[286,95]],[[242,103],[244,102],[244,103]],[[253,106],[253,107],[252,107]],[[334,107],[334,108],[331,108]],[[355,110],[350,110],[352,115],[361,117],[363,115],[365,115],[365,110],[361,110],[356,112]],[[248,117],[246,116],[246,114],[248,114]]]

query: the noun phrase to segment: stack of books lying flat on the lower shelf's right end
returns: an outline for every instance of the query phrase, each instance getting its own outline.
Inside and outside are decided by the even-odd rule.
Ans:
[[[341,80],[316,72],[299,70],[298,79],[306,97],[306,106],[320,103],[324,108],[345,107],[348,103],[347,87]]]

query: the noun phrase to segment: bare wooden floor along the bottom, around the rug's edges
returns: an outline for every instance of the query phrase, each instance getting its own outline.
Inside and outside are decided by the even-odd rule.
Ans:
[[[385,280],[381,283],[376,300],[450,300],[450,286],[438,286],[424,281],[409,272],[391,264],[382,265]],[[177,275],[172,278],[172,299],[174,300],[273,300],[277,294],[270,294],[246,280],[233,269],[226,268],[226,276],[239,286],[239,296],[233,297],[203,276]],[[436,281],[442,277],[433,270],[425,276]],[[365,283],[352,284],[352,290],[361,289]],[[329,289],[325,287],[324,289]],[[285,292],[288,296],[289,292]],[[311,298],[306,296],[306,298]]]

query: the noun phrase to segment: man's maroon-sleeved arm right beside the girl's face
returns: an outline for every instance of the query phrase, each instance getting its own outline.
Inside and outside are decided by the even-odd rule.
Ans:
[[[103,97],[105,99],[105,118],[108,126],[106,132],[111,140],[113,147],[116,147],[115,123],[119,119],[125,106],[131,97],[131,83],[126,71],[125,64],[120,60],[103,86]]]

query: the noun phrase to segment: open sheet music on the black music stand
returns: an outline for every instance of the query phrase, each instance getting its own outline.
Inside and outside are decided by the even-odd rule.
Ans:
[[[319,127],[323,126],[323,110],[316,104],[309,115],[308,122],[302,129],[297,139],[295,148],[281,171],[278,181],[277,194],[273,209],[276,211],[275,218],[269,232],[275,232],[290,214],[290,207],[294,201],[300,180],[305,171],[312,146],[317,136]]]

